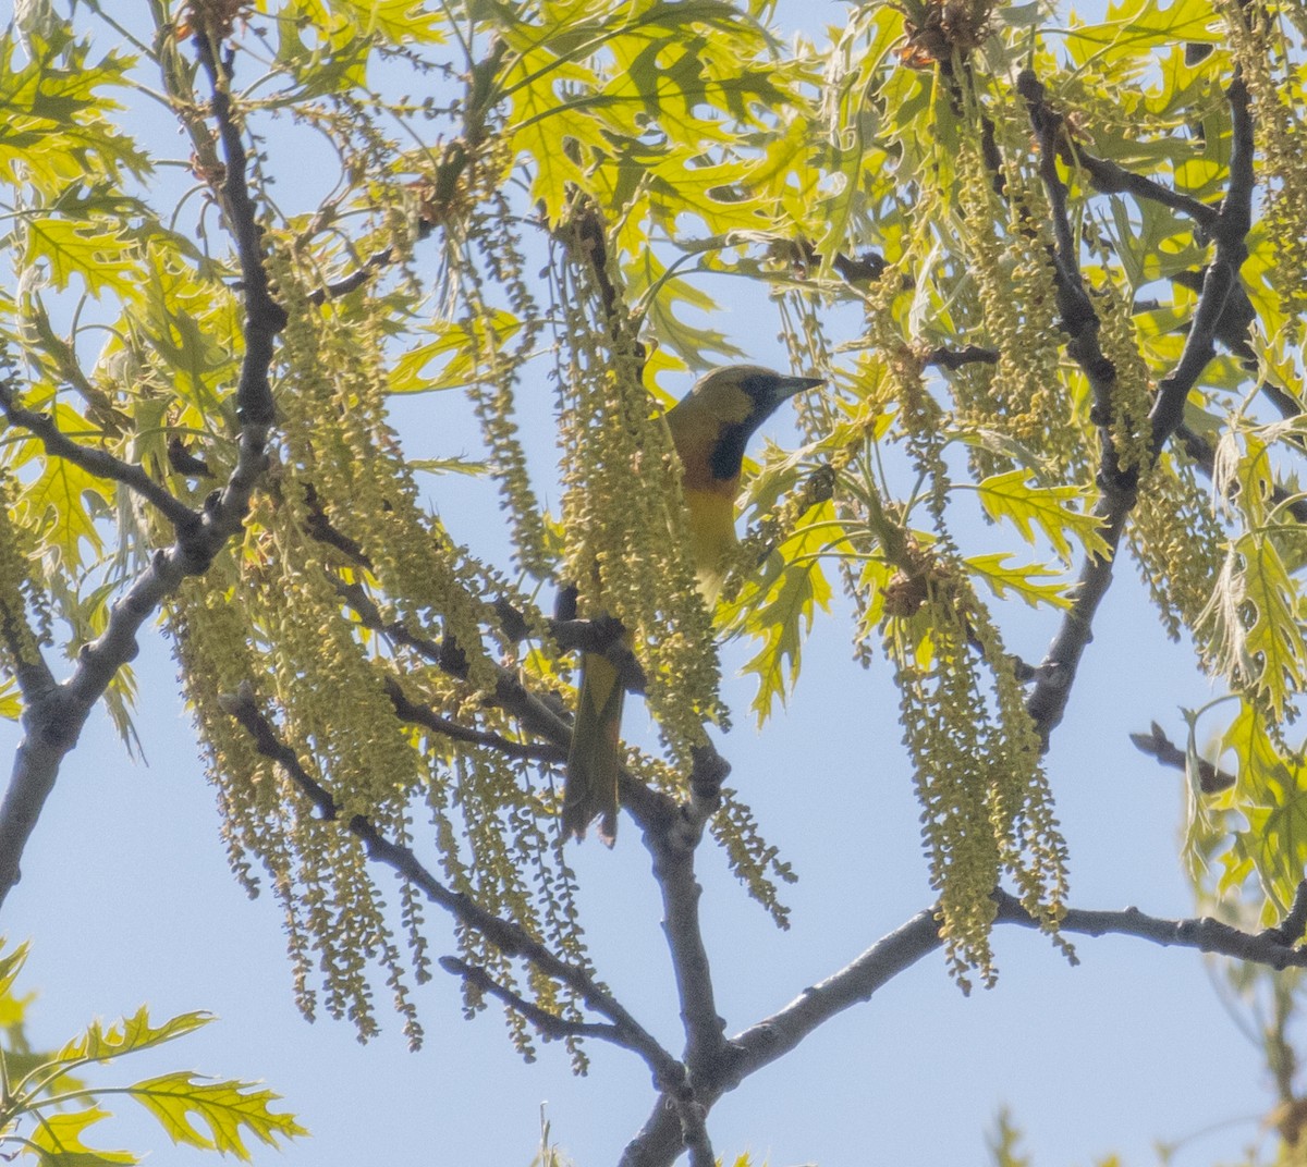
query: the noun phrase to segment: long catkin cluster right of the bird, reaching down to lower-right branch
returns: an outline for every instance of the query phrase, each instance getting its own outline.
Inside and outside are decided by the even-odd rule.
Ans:
[[[1025,691],[948,529],[946,414],[923,376],[921,346],[907,344],[895,320],[901,286],[893,269],[880,281],[870,297],[868,335],[882,362],[876,393],[898,405],[908,453],[924,482],[933,541],[925,545],[906,531],[869,482],[848,494],[863,499],[863,525],[876,532],[878,555],[893,570],[889,578],[864,575],[881,595],[864,599],[863,626],[869,631],[870,613],[881,614],[923,806],[931,881],[940,895],[941,936],[954,976],[968,988],[972,970],[985,984],[996,975],[992,894],[1004,873],[1026,910],[1056,936],[1067,896],[1067,846]],[[1023,384],[1034,388],[1036,379]],[[1057,396],[1050,392],[1042,400]],[[1039,408],[1033,405],[1036,416]],[[995,421],[1012,418],[1000,413]]]

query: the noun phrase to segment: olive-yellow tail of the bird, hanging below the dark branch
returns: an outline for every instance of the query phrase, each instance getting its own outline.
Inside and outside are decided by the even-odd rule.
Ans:
[[[617,771],[626,687],[606,656],[587,652],[580,668],[576,724],[563,785],[563,838],[584,838],[597,818],[599,838],[612,847],[617,838]]]

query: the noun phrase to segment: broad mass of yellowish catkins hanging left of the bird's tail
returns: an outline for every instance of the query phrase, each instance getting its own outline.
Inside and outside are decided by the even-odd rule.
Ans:
[[[400,846],[420,835],[425,848],[431,832],[414,822],[425,806],[451,886],[582,959],[553,800],[536,789],[535,768],[499,750],[455,748],[396,710],[397,686],[435,720],[514,734],[494,700],[515,651],[494,600],[527,605],[420,506],[386,419],[384,304],[366,293],[314,302],[307,289],[318,285],[289,244],[272,248],[268,268],[289,318],[269,489],[243,548],[213,566],[208,589],[183,589],[170,621],[233,866],[251,890],[261,866],[286,912],[301,1008],[325,1008],[372,1034],[369,978],[379,967],[416,1044],[408,978],[427,975],[421,896],[401,883],[405,961],[349,830],[356,815]],[[233,694],[252,702],[293,763],[274,761],[231,716]],[[329,796],[332,814],[306,796],[305,779]],[[502,953],[465,929],[460,941],[469,959],[518,987],[523,974]],[[571,1009],[538,976],[520,991]],[[519,1023],[525,1052],[531,1036]]]

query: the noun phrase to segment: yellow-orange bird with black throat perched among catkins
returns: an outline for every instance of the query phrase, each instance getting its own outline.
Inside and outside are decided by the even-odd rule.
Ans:
[[[725,579],[725,553],[736,544],[736,498],[745,446],[795,393],[825,384],[761,365],[728,365],[701,376],[667,414],[681,461],[681,493],[699,591],[711,608]],[[563,838],[584,838],[599,819],[599,838],[617,838],[617,775],[626,686],[618,666],[596,652],[582,655],[567,775]]]

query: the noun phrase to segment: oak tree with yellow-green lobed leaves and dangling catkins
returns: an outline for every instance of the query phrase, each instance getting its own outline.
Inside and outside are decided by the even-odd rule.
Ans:
[[[616,1045],[654,1081],[626,1167],[708,1167],[725,1093],[925,954],[992,985],[1005,925],[1051,961],[1115,933],[1243,979],[1307,964],[1307,8],[903,0],[788,42],[774,9],[24,7],[0,43],[0,712],[24,733],[0,900],[41,879],[24,849],[91,711],[133,740],[131,663],[162,635],[303,1013],[369,1038],[384,994],[417,1047],[446,1019],[413,985],[452,976],[527,1057]],[[763,314],[825,386],[750,464],[708,610],[663,417],[761,359]],[[413,452],[463,417],[476,456]],[[497,510],[447,504],[468,477]],[[1057,728],[1131,576],[1221,694],[1104,727],[1187,775],[1188,920],[1077,904],[1055,810]],[[786,715],[813,636],[897,702],[874,780],[915,788],[933,900],[876,920],[859,887],[863,954],[728,1027],[695,865],[720,848],[780,928],[795,873],[724,731],[814,757],[856,733]],[[586,944],[558,826],[579,649],[652,717],[618,846],[652,860],[674,1048]],[[814,792],[814,825],[876,797]]]

